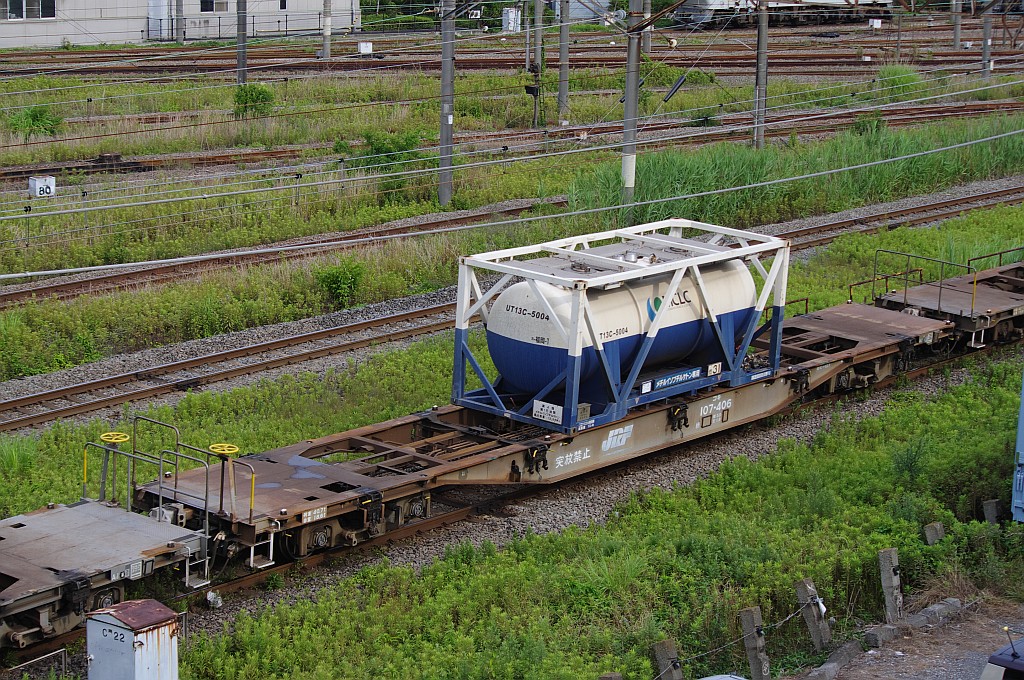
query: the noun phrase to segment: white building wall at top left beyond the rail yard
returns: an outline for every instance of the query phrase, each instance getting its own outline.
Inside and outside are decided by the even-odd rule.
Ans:
[[[55,18],[0,18],[0,48],[59,47],[63,44],[138,43],[174,39],[174,0],[55,0]],[[323,30],[323,0],[249,0],[251,38],[310,35]],[[231,40],[237,33],[234,0],[185,0],[185,40]],[[332,30],[360,25],[358,0],[333,0]]]

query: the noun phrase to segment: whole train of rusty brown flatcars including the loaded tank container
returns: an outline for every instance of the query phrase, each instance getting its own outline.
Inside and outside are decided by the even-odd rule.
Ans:
[[[556,483],[1024,335],[1024,264],[783,320],[787,263],[784,241],[682,219],[465,257],[451,406],[244,456],[136,418],[130,441],[87,445],[82,502],[0,522],[0,646],[156,570],[188,589],[234,555],[356,545],[442,490]]]

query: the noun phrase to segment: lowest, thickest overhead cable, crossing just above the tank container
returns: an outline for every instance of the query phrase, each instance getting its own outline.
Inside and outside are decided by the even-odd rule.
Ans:
[[[828,169],[828,170],[820,170],[820,171],[817,171],[817,172],[810,172],[810,173],[805,173],[805,174],[802,174],[802,175],[795,175],[795,176],[791,176],[791,177],[779,177],[777,179],[766,179],[764,181],[752,182],[752,183],[742,184],[742,185],[739,185],[739,186],[729,186],[729,187],[724,187],[724,188],[708,189],[706,192],[696,192],[696,193],[693,193],[693,194],[685,194],[685,195],[679,195],[679,196],[672,196],[672,197],[666,197],[666,198],[660,198],[660,199],[649,199],[649,200],[646,200],[646,201],[634,201],[634,202],[632,202],[630,204],[616,204],[616,205],[612,205],[612,206],[602,206],[602,207],[598,207],[598,208],[582,208],[582,209],[579,209],[579,210],[572,210],[572,211],[568,211],[568,212],[565,212],[565,213],[559,213],[557,215],[539,215],[539,216],[530,216],[530,217],[517,217],[517,218],[514,218],[514,219],[497,220],[497,221],[486,222],[486,223],[482,223],[482,224],[469,224],[469,225],[459,225],[459,226],[441,227],[441,228],[437,228],[437,229],[429,229],[429,230],[426,230],[426,231],[421,231],[421,232],[418,233],[418,236],[451,233],[451,232],[455,232],[455,231],[465,231],[465,230],[468,230],[468,229],[481,229],[481,228],[482,229],[486,229],[486,228],[494,228],[494,227],[498,227],[498,226],[507,226],[507,225],[511,225],[511,224],[525,224],[525,223],[537,222],[537,221],[548,220],[548,219],[564,219],[566,217],[579,217],[579,216],[582,216],[582,215],[594,215],[594,214],[599,214],[599,213],[617,211],[617,210],[622,210],[624,208],[630,208],[630,207],[643,207],[643,206],[662,205],[662,204],[666,204],[666,203],[672,203],[672,202],[675,202],[675,201],[685,201],[685,200],[688,200],[688,199],[697,199],[697,198],[703,198],[703,197],[708,197],[708,196],[720,196],[722,194],[728,194],[728,193],[731,193],[731,192],[740,192],[740,190],[748,190],[748,189],[754,189],[754,188],[763,188],[763,187],[766,187],[766,186],[775,186],[777,184],[783,184],[783,183],[793,182],[793,181],[801,181],[801,180],[805,180],[805,179],[814,179],[814,178],[817,178],[817,177],[827,177],[827,176],[830,176],[830,175],[839,174],[841,172],[850,172],[850,171],[853,171],[853,170],[862,170],[864,168],[871,168],[871,167],[876,167],[876,166],[887,165],[889,163],[898,163],[900,161],[907,161],[907,160],[914,159],[914,158],[922,158],[922,157],[925,157],[925,156],[931,156],[933,154],[941,154],[941,153],[953,151],[953,150],[956,150],[956,148],[965,148],[965,147],[968,147],[968,146],[973,146],[975,144],[988,143],[990,141],[995,141],[997,139],[1009,138],[1009,137],[1012,137],[1012,136],[1015,136],[1015,135],[1018,135],[1018,134],[1021,134],[1021,133],[1024,133],[1024,129],[1012,130],[1010,132],[1002,132],[1002,133],[999,133],[999,134],[989,135],[987,137],[982,137],[980,139],[972,139],[972,140],[969,140],[969,141],[962,141],[962,142],[958,142],[958,143],[955,143],[955,144],[948,144],[946,146],[941,146],[939,148],[931,148],[931,150],[927,150],[927,151],[923,151],[923,152],[915,152],[913,154],[904,154],[904,155],[893,157],[893,158],[881,159],[881,160],[878,160],[878,161],[869,161],[867,163],[858,163],[856,165],[849,165],[849,166],[845,166],[845,167],[842,167],[842,168],[831,168],[831,169]],[[300,244],[300,245],[295,245],[295,246],[276,246],[276,247],[273,247],[273,248],[259,248],[259,249],[252,249],[252,250],[234,251],[232,254],[236,255],[236,256],[267,255],[267,254],[293,252],[293,251],[298,251],[298,250],[323,249],[323,248],[329,248],[329,247],[331,247],[333,245],[338,245],[338,244],[342,244],[342,243],[344,245],[346,245],[346,246],[360,245],[360,244],[362,244],[362,245],[371,245],[371,244],[376,245],[376,244],[382,244],[382,243],[385,243],[385,242],[388,242],[388,241],[394,241],[395,239],[400,239],[400,238],[403,238],[403,236],[401,236],[401,235],[385,235],[385,236],[376,236],[376,237],[375,236],[371,236],[371,237],[366,237],[364,239],[345,239],[345,240],[339,240],[339,241],[319,242],[319,243],[316,243],[316,244]],[[19,271],[19,272],[15,272],[15,273],[0,274],[0,281],[11,280],[11,279],[27,279],[27,278],[34,278],[34,277],[52,277],[52,275],[72,274],[72,273],[86,273],[86,272],[90,272],[90,271],[109,271],[109,270],[125,269],[125,268],[129,268],[129,267],[138,267],[138,266],[145,266],[145,265],[184,264],[184,263],[187,263],[187,262],[203,262],[203,261],[206,261],[206,260],[220,259],[223,256],[219,255],[219,254],[217,254],[217,255],[190,255],[190,256],[187,256],[187,257],[176,257],[176,258],[168,258],[168,259],[160,259],[160,260],[147,260],[147,261],[143,261],[143,262],[130,262],[130,263],[124,263],[124,264],[100,264],[100,265],[93,265],[93,266],[86,266],[86,267],[70,267],[70,268],[45,269],[45,270],[37,270],[37,271]]]

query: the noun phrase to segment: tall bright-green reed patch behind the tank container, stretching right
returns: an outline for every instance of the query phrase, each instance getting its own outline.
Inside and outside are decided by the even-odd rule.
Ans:
[[[1011,132],[1022,125],[1024,117],[1007,116],[914,129],[880,129],[869,135],[844,132],[827,141],[793,147],[771,145],[757,151],[721,143],[695,151],[646,154],[637,161],[635,196],[644,202],[796,177]],[[827,177],[638,206],[635,221],[686,217],[753,226],[1011,175],[1020,172],[1022,164],[1024,135],[1015,135]],[[574,209],[617,205],[621,193],[620,168],[614,164],[585,174],[569,188]],[[615,215],[605,214],[603,219],[612,223]]]

